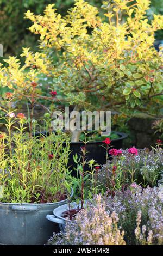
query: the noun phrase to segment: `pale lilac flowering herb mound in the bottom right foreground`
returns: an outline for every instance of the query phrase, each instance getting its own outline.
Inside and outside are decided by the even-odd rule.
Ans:
[[[96,196],[65,233],[53,234],[49,245],[162,245],[162,188],[131,184],[114,198]]]

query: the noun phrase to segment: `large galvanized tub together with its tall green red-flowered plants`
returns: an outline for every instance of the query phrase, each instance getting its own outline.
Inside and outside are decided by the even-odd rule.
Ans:
[[[8,109],[1,108],[7,133],[0,133],[0,243],[41,245],[58,230],[46,215],[73,194],[67,181],[70,143],[60,131],[41,138],[24,132],[28,120],[12,111],[12,98],[6,93]],[[12,127],[17,131],[12,132]]]

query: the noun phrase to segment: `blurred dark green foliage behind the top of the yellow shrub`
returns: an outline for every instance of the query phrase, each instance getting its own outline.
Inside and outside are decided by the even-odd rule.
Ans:
[[[102,5],[102,0],[87,2],[97,7]],[[147,13],[149,19],[152,19],[153,13],[163,14],[163,1],[151,2],[151,9]],[[0,0],[0,43],[4,47],[4,57],[20,55],[22,47],[32,47],[33,51],[37,50],[39,38],[28,31],[31,23],[28,19],[24,19],[24,13],[30,9],[35,14],[42,14],[49,3],[55,3],[58,12],[65,15],[74,0]],[[157,32],[155,37],[157,40],[163,39],[163,32]]]

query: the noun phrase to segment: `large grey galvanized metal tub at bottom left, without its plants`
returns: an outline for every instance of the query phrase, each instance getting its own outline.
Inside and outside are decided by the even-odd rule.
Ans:
[[[54,231],[59,231],[58,225],[49,223],[46,215],[67,202],[66,199],[49,204],[0,203],[0,245],[45,244]]]

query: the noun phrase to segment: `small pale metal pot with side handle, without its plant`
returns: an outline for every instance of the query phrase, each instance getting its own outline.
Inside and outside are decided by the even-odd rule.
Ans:
[[[88,203],[89,203],[89,201],[85,200],[84,207]],[[59,227],[60,227],[60,230],[62,232],[65,231],[65,221],[66,221],[66,218],[63,218],[61,216],[62,216],[63,212],[65,212],[65,211],[67,211],[69,209],[69,207],[71,207],[71,209],[78,209],[78,208],[81,207],[81,203],[77,204],[77,203],[74,202],[74,203],[71,203],[71,206],[69,204],[61,205],[61,206],[59,206],[59,207],[54,209],[54,211],[53,211],[54,215],[48,214],[46,216],[47,220],[52,221],[54,223],[58,223]]]

